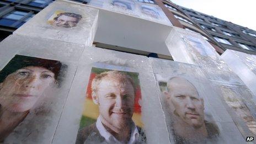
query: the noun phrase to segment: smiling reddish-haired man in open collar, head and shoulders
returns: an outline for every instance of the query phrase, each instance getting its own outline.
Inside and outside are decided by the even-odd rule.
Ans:
[[[145,134],[132,121],[135,92],[134,81],[123,72],[98,74],[92,82],[92,98],[99,117],[78,132],[76,143],[146,143]]]

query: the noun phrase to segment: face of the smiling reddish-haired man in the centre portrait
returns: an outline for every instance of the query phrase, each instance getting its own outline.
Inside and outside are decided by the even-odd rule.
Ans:
[[[114,76],[104,77],[97,86],[95,96],[103,124],[115,129],[122,129],[130,124],[135,93],[128,79],[124,82],[124,79]]]

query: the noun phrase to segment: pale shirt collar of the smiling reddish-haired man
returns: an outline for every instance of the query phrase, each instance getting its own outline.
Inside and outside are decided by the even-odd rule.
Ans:
[[[102,136],[105,138],[105,140],[106,140],[107,142],[110,142],[110,141],[113,141],[113,140],[114,140],[114,141],[117,142],[117,143],[121,143],[121,142],[119,142],[118,140],[116,140],[116,138],[115,138],[113,135],[111,135],[111,134],[105,129],[105,127],[104,127],[103,124],[102,124],[102,118],[101,118],[101,116],[99,116],[98,119],[97,119],[96,127],[97,127],[97,129],[99,130],[99,134],[102,135]],[[128,143],[135,143],[136,140],[137,140],[137,138],[138,138],[138,136],[139,136],[139,134],[138,134],[137,127],[136,127],[136,125],[134,124],[133,121],[132,121],[132,125],[131,125],[131,130],[132,130],[132,131],[131,131],[131,136],[130,136],[130,140],[129,140]]]

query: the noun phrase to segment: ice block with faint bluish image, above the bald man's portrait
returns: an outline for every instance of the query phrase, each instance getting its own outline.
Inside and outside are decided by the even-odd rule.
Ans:
[[[166,45],[174,61],[207,67],[221,67],[220,56],[209,42],[200,34],[188,30],[173,28]]]

